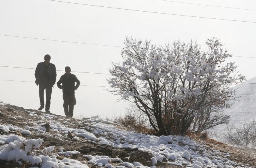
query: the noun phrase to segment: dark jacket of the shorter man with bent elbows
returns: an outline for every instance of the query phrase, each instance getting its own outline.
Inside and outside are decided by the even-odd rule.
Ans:
[[[75,82],[76,82],[76,86],[75,86]],[[74,94],[75,90],[80,85],[80,81],[78,80],[78,78],[76,78],[74,74],[70,74],[69,77],[66,74],[64,74],[60,76],[60,80],[57,82],[58,88],[61,89],[60,84],[62,84],[63,86],[63,90],[62,90],[63,93]]]

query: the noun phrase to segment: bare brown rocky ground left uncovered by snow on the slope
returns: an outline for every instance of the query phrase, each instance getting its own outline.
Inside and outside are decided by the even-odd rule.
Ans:
[[[6,125],[6,124],[12,124],[13,126],[18,126],[19,128],[24,128],[26,125],[32,124],[32,117],[28,115],[28,112],[26,111],[37,111],[32,109],[24,109],[22,107],[13,106],[10,104],[0,105],[0,124]],[[37,111],[38,115],[40,113]],[[14,116],[22,116],[22,119],[19,120],[19,118],[15,118]],[[64,116],[56,115],[58,116],[56,120],[58,122],[62,122],[65,118]],[[26,121],[24,121],[24,118]],[[62,120],[61,120],[62,119]],[[66,121],[70,124],[70,127],[72,128],[80,128],[80,125],[77,124],[78,119],[74,118],[65,118]],[[67,125],[67,123],[64,123]],[[45,125],[46,129],[48,130],[49,134],[54,134],[50,130],[50,127]],[[0,134],[6,134],[5,132],[1,132]],[[12,131],[8,134],[18,134],[19,136],[22,136],[20,132]],[[26,136],[26,135],[23,135]],[[58,152],[58,149],[60,147],[65,148],[66,150],[76,150],[79,151],[80,154],[76,155],[73,154],[72,156],[68,156],[70,158],[79,160],[80,162],[86,161],[86,158],[83,157],[84,154],[86,155],[103,155],[103,156],[110,156],[111,158],[121,158],[123,161],[126,162],[140,162],[144,166],[151,166],[150,162],[150,154],[147,152],[140,151],[138,149],[131,149],[131,148],[113,148],[111,146],[107,146],[104,144],[97,144],[93,143],[91,141],[87,141],[84,139],[81,139],[80,141],[72,141],[71,138],[74,135],[70,132],[68,134],[68,137],[66,138],[66,141],[60,141],[58,137],[52,137],[48,136],[48,134],[39,134],[33,132],[32,136],[29,136],[29,138],[38,139],[41,138],[44,140],[42,147],[48,147],[48,146],[55,146],[56,151]],[[196,136],[195,134],[192,135],[192,139],[195,140],[197,143],[201,144],[202,146],[205,146],[208,150],[219,150],[222,154],[229,153],[230,154],[230,160],[237,162],[239,166],[246,166],[246,167],[256,167],[256,150],[254,149],[243,149],[243,148],[237,148],[233,146],[229,146],[227,144],[223,144],[221,142],[209,139],[209,138],[200,138],[199,136]],[[129,157],[128,157],[129,156]],[[58,159],[62,159],[61,157],[66,156],[60,156]],[[112,164],[114,165],[114,164]],[[31,165],[24,164],[22,167],[30,167]],[[89,167],[95,167],[93,165],[88,164]],[[170,166],[165,163],[161,163],[156,165],[157,167],[162,168],[176,168],[178,166]],[[3,160],[0,160],[0,167],[8,167],[8,168],[14,168],[19,167],[17,164],[10,164],[6,166],[6,162]]]

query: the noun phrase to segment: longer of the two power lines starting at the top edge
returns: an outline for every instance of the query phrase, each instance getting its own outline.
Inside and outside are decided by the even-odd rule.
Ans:
[[[81,3],[75,3],[75,2],[64,2],[64,1],[58,1],[58,0],[49,0],[49,1],[62,2],[62,3],[69,3],[69,4],[77,4],[77,5],[86,5],[86,6],[95,6],[95,7],[101,7],[101,8],[110,8],[110,9],[119,9],[119,10],[129,10],[129,11],[136,11],[136,12],[146,12],[146,13],[154,13],[154,14],[166,14],[166,15],[185,16],[185,17],[192,17],[192,18],[204,18],[204,19],[226,20],[226,21],[234,21],[234,22],[256,23],[256,22],[245,21],[245,20],[231,20],[231,19],[209,18],[209,17],[202,17],[202,16],[182,15],[182,14],[170,14],[170,13],[152,12],[152,11],[146,11],[146,10],[135,10],[135,9],[126,9],[126,8],[116,8],[116,7],[110,7],[110,6],[100,6],[100,5],[91,5],[91,4],[81,4]]]

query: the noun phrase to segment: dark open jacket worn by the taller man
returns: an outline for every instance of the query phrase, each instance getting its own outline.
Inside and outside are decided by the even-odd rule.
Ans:
[[[44,62],[40,62],[36,66],[36,71],[35,71],[36,85],[43,82],[44,67],[45,67]],[[49,80],[48,82],[53,86],[56,82],[56,76],[57,76],[55,65],[50,63],[48,66],[48,70],[46,71],[48,72],[48,80]]]

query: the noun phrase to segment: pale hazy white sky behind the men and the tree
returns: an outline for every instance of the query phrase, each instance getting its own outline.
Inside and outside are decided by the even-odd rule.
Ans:
[[[192,39],[197,40],[202,48],[206,46],[207,38],[217,37],[225,44],[225,49],[236,56],[229,61],[239,65],[239,72],[247,79],[256,76],[255,0],[179,0],[185,3],[163,0],[66,2],[73,4],[52,0],[0,0],[0,101],[24,108],[37,109],[40,106],[38,86],[33,83],[34,69],[1,66],[36,68],[38,62],[44,61],[44,55],[50,54],[51,63],[56,65],[57,70],[70,66],[71,71],[107,74],[112,62],[121,61],[121,48],[114,46],[123,46],[126,36],[142,40],[147,38],[155,44],[174,40],[188,42]],[[110,75],[71,73],[81,81],[81,86],[76,91],[77,105],[74,107],[74,116],[100,114],[101,117],[112,118],[124,114],[127,104],[117,102],[118,96],[105,91],[104,87],[97,87],[109,86],[106,78]],[[62,74],[64,71],[57,71],[57,81]],[[64,115],[62,90],[56,85],[51,102],[50,111]]]

